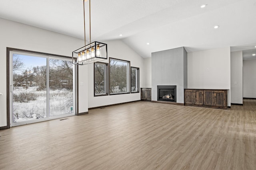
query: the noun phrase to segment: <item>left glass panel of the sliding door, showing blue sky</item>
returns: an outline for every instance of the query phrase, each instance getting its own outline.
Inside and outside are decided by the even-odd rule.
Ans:
[[[12,57],[12,122],[47,117],[47,59],[19,54]]]

